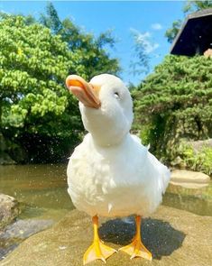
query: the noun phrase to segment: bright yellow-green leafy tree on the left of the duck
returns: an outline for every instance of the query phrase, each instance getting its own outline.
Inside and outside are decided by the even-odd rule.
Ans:
[[[7,16],[0,27],[1,130],[22,142],[26,152],[36,152],[47,140],[51,149],[54,141],[74,135],[71,128],[80,128],[77,103],[64,80],[72,69],[81,75],[86,71],[78,55],[49,29],[29,25],[22,16]]]

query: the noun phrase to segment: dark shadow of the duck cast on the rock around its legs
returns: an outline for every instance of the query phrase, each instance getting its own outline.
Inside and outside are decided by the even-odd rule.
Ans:
[[[132,222],[131,222],[132,221]],[[132,241],[135,233],[134,220],[124,222],[121,219],[107,221],[99,228],[103,241],[120,245]],[[154,259],[169,256],[179,249],[186,234],[174,229],[170,223],[158,219],[145,218],[142,224],[142,238],[145,246],[152,252]]]

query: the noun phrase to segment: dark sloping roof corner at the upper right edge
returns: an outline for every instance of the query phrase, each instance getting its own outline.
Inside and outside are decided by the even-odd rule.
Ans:
[[[171,45],[171,54],[193,56],[212,48],[212,8],[189,14]]]

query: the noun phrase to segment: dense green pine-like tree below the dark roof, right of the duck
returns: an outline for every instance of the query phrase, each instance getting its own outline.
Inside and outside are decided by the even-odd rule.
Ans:
[[[212,137],[212,60],[167,56],[134,90],[135,124],[160,157],[172,160],[180,139]]]

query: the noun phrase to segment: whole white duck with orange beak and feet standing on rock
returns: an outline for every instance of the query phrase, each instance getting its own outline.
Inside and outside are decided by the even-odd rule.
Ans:
[[[101,242],[98,216],[130,215],[135,215],[136,234],[133,242],[120,250],[131,258],[152,260],[141,240],[141,216],[150,215],[161,203],[170,170],[129,133],[133,102],[121,79],[102,74],[88,83],[71,75],[66,84],[78,97],[82,121],[89,132],[71,155],[67,170],[73,204],[93,217],[94,242],[83,262],[106,262],[116,252]]]

